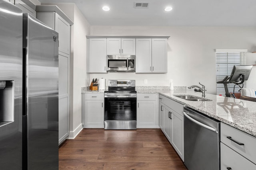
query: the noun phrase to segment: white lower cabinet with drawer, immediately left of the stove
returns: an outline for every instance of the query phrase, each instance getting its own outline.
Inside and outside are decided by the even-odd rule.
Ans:
[[[104,128],[104,94],[83,94],[82,124],[84,128]]]

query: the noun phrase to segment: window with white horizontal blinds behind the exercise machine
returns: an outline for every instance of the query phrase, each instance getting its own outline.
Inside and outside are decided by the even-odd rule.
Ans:
[[[223,80],[225,76],[230,76],[234,65],[246,65],[246,53],[244,49],[216,49],[216,82]],[[229,92],[233,92],[233,83],[228,84]],[[246,82],[244,82],[246,87]],[[239,86],[235,86],[235,92],[238,92]],[[216,83],[216,94],[225,96],[225,89],[222,83]]]

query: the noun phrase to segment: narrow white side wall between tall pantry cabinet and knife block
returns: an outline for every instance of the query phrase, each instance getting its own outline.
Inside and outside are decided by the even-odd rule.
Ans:
[[[90,24],[77,6],[74,6],[74,63],[73,63],[73,127],[70,131],[82,128],[82,97],[81,88],[88,86],[86,73],[86,35],[90,34]]]

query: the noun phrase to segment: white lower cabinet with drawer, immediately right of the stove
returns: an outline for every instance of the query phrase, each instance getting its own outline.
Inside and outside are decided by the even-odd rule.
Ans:
[[[137,94],[137,128],[158,128],[156,94]]]

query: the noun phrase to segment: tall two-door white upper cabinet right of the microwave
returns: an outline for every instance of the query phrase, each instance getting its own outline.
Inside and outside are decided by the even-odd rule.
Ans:
[[[167,72],[167,39],[136,39],[136,73]]]

